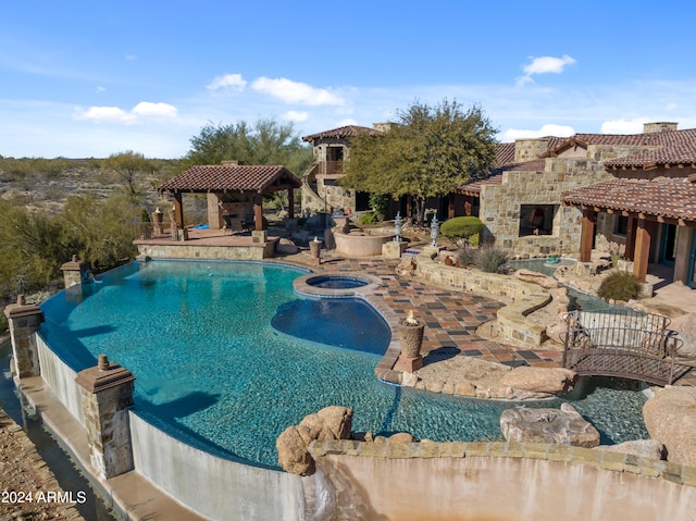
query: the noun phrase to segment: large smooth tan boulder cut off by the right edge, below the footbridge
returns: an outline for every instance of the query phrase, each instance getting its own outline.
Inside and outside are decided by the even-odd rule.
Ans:
[[[696,387],[666,387],[645,402],[643,419],[669,461],[696,467]]]

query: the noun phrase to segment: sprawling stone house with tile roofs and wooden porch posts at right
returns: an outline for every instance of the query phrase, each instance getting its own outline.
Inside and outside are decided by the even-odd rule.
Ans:
[[[593,247],[618,250],[641,281],[648,263],[661,263],[694,284],[696,129],[649,123],[642,134],[519,139],[496,152],[489,175],[452,195],[463,198],[456,213],[471,209],[489,240],[515,255],[581,260]]]

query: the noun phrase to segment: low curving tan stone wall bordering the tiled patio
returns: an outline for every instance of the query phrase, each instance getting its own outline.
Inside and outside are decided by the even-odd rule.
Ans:
[[[525,317],[551,301],[551,296],[547,290],[511,275],[448,266],[435,262],[433,260],[435,255],[421,253],[418,256],[415,273],[419,278],[462,291],[484,291],[511,298],[512,303],[500,308],[497,313],[500,337],[529,346],[539,346],[546,340],[546,328],[530,323]]]

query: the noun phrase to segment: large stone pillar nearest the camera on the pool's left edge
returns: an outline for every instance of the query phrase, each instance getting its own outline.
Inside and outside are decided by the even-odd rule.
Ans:
[[[77,373],[80,387],[89,460],[97,475],[108,480],[133,470],[128,408],[133,406],[135,376],[99,356],[97,367]]]

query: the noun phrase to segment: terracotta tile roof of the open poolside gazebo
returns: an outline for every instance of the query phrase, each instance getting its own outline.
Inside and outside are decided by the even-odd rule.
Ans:
[[[158,187],[160,191],[258,191],[276,182],[299,188],[301,183],[282,165],[197,165]]]

